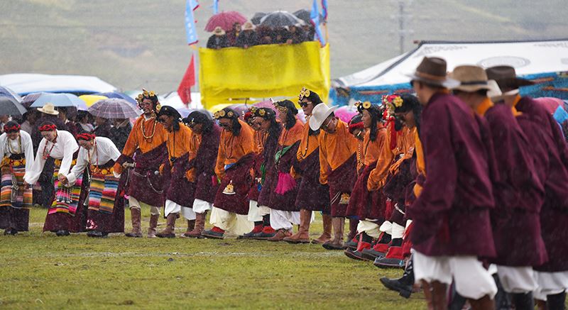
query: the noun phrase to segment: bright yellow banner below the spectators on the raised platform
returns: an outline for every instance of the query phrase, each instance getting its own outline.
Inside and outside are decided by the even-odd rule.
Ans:
[[[329,44],[324,48],[317,41],[248,49],[200,48],[200,92],[205,109],[249,98],[294,98],[302,87],[327,101],[329,83]]]

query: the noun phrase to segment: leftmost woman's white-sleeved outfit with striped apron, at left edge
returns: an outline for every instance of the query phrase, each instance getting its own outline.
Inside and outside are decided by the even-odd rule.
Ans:
[[[23,186],[23,176],[33,165],[31,135],[20,131],[20,136],[11,140],[6,133],[2,133],[0,152],[0,228],[28,231],[32,188]]]

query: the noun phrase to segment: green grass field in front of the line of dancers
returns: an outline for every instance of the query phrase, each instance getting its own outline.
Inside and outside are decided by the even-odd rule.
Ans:
[[[403,299],[379,270],[320,245],[258,240],[0,236],[0,309],[424,309],[422,293]],[[126,212],[126,228],[130,228]],[[148,210],[143,214],[148,227]],[[185,223],[178,221],[178,231]],[[160,219],[163,228],[164,220]],[[322,231],[321,217],[312,236]]]

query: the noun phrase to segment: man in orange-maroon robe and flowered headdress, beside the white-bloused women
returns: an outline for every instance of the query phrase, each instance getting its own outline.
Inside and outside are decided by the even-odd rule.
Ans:
[[[163,186],[165,179],[159,175],[160,165],[168,158],[165,147],[168,132],[155,119],[160,107],[158,96],[154,92],[143,90],[136,98],[143,114],[130,132],[122,155],[114,164],[116,174],[121,174],[124,167],[132,166],[128,175],[126,194],[129,195],[129,206],[132,217],[132,231],[127,237],[142,237],[141,206],[150,209],[150,227],[148,238],[155,238],[155,227],[158,226],[160,208],[164,204]]]

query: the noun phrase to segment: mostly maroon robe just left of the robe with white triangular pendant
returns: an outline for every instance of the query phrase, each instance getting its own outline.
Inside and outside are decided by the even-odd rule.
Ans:
[[[215,175],[215,161],[219,153],[219,138],[221,128],[213,124],[211,132],[203,136],[192,131],[190,140],[190,158],[188,175],[190,182],[194,183],[195,192],[193,199],[199,199],[212,204],[217,194],[219,182]]]

